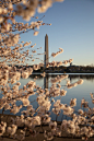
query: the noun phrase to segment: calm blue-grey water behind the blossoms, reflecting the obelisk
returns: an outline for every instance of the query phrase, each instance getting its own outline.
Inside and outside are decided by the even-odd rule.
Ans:
[[[33,74],[31,75],[28,79],[21,79],[20,82],[21,82],[21,87],[23,87],[23,85],[25,85],[28,81],[33,81],[35,77],[37,77],[37,80],[36,80],[36,84],[39,85],[39,86],[43,86],[44,85],[44,82],[46,81],[46,83],[48,82],[48,84],[46,86],[50,87],[51,83],[50,83],[50,79],[51,78],[55,78],[57,74],[48,74],[46,77],[46,79],[44,80],[39,74]],[[60,74],[59,74],[60,75]],[[79,108],[81,108],[81,99],[84,97],[85,101],[89,102],[89,105],[90,107],[94,107],[94,105],[92,104],[92,99],[91,99],[91,96],[90,96],[90,93],[93,92],[94,93],[94,74],[69,74],[69,78],[71,83],[73,82],[77,82],[79,79],[83,79],[83,84],[80,84],[75,87],[72,87],[72,89],[66,89],[67,91],[67,94],[66,96],[62,96],[61,98],[61,103],[62,104],[70,104],[70,99],[71,98],[77,98],[77,106],[74,107],[75,110],[78,110]],[[66,80],[62,80],[61,81],[61,85],[64,85],[67,82]],[[63,89],[63,86],[61,87]],[[0,95],[0,98],[2,97],[2,95]],[[36,99],[36,95],[32,95],[30,96],[30,101],[34,101]],[[51,99],[51,98],[50,98]],[[60,99],[60,96],[58,97],[55,97],[55,101],[57,99]],[[16,105],[20,105],[22,104],[22,102],[16,102]],[[34,108],[37,108],[37,102],[34,102],[32,103],[33,107]],[[52,106],[51,106],[52,108]],[[51,109],[50,108],[50,109]],[[25,110],[26,108],[23,107],[20,113],[17,113],[16,115],[21,115],[21,111],[22,110]],[[1,113],[1,110],[0,110]],[[10,114],[10,110],[5,110],[4,114]],[[55,114],[51,114],[51,119],[52,120],[56,120],[56,115]],[[58,120],[61,120],[61,115],[58,117]]]

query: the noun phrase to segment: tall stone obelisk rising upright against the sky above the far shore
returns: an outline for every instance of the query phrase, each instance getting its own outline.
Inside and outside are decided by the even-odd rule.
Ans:
[[[48,61],[48,35],[45,36],[45,60],[44,60],[44,67],[46,68]]]

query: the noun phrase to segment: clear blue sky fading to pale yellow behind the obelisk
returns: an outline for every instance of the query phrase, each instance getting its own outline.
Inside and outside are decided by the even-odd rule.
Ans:
[[[43,19],[44,23],[51,23],[51,26],[44,25],[39,34],[33,36],[33,31],[21,35],[22,40],[36,43],[35,49],[42,47],[37,52],[45,50],[45,35],[48,35],[49,57],[59,48],[63,52],[56,58],[50,57],[49,61],[63,61],[73,58],[73,64],[94,64],[94,0],[64,0],[56,2],[45,13],[37,13],[35,16]],[[24,22],[16,17],[17,22]],[[31,23],[33,19],[28,23]],[[26,22],[24,22],[26,23]],[[32,51],[31,51],[32,55]],[[44,60],[44,56],[39,57]],[[28,64],[39,63],[28,61]]]

